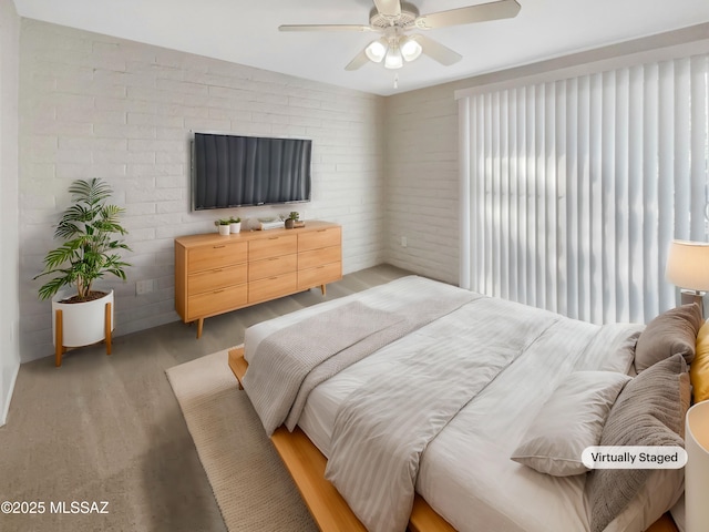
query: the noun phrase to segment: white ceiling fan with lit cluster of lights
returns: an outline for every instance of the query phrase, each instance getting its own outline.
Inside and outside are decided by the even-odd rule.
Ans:
[[[497,0],[477,6],[419,14],[415,6],[401,0],[373,0],[369,25],[364,24],[284,24],[280,31],[372,31],[381,37],[370,42],[350,61],[345,70],[357,70],[368,61],[381,63],[387,69],[400,69],[404,61],[413,61],[424,53],[443,65],[451,65],[462,55],[443,44],[413,30],[433,30],[450,25],[470,24],[486,20],[516,17],[521,6],[516,0]]]

